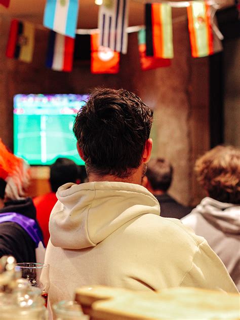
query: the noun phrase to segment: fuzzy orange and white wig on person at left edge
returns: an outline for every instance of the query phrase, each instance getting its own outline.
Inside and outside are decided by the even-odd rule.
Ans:
[[[25,197],[29,185],[30,172],[28,164],[11,153],[0,139],[0,198],[18,200]]]

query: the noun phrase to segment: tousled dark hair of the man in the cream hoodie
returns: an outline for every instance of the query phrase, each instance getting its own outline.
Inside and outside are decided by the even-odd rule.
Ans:
[[[153,112],[134,93],[95,89],[73,126],[87,172],[128,177],[140,166],[152,120]]]

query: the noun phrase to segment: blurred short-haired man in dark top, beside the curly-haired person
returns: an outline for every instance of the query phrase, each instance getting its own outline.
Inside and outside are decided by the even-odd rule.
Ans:
[[[170,162],[164,158],[153,158],[147,164],[143,186],[157,198],[161,217],[181,219],[191,212],[191,208],[179,204],[168,194],[172,178],[173,167]]]

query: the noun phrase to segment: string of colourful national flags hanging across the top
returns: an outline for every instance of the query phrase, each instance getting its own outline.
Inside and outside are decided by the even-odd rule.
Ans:
[[[0,0],[8,7],[10,0]],[[192,57],[222,50],[221,33],[213,0],[145,4],[145,27],[138,30],[142,70],[171,65],[174,57],[172,7],[187,7]],[[91,60],[92,73],[118,73],[120,54],[127,53],[129,0],[104,0],[99,8],[98,29],[76,34],[78,0],[47,0],[43,25],[50,29],[46,67],[70,72],[73,60]],[[14,19],[6,56],[31,62],[34,24]],[[220,38],[219,38],[220,37]]]

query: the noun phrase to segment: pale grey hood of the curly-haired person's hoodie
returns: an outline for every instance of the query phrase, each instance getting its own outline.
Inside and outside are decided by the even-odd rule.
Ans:
[[[206,197],[193,209],[224,233],[240,234],[240,206]]]

